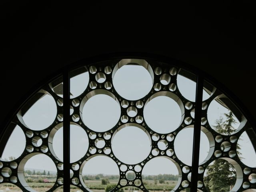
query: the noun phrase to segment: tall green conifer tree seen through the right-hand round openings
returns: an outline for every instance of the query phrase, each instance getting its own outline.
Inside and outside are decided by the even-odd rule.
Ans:
[[[229,135],[235,131],[233,125],[236,123],[233,113],[224,114],[226,120],[224,121],[220,117],[215,122],[214,129],[220,134]],[[237,146],[238,155],[241,154],[238,150],[240,146]],[[204,178],[204,184],[210,192],[228,192],[230,186],[234,186],[236,182],[236,171],[232,164],[224,159],[217,159],[213,164],[206,168],[207,176]]]

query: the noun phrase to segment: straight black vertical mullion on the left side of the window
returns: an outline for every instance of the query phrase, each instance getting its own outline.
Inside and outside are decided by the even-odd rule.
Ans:
[[[63,74],[63,192],[70,192],[70,74]]]

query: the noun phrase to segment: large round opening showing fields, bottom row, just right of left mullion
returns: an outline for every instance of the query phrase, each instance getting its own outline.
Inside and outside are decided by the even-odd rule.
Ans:
[[[109,182],[115,185],[118,184],[120,177],[118,166],[114,160],[108,156],[94,156],[84,163],[81,177],[86,187],[90,188],[90,186],[105,185]]]

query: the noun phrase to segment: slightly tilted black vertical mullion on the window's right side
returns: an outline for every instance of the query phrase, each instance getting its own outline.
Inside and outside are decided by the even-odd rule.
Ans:
[[[191,192],[197,191],[203,84],[204,83],[203,83],[202,75],[198,74],[197,81],[196,81],[195,122],[194,122],[192,171],[191,171],[191,187],[190,187]]]

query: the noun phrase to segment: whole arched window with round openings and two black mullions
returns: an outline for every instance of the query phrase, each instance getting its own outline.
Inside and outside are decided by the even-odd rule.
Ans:
[[[176,60],[80,61],[1,135],[0,190],[256,191],[254,124]]]

